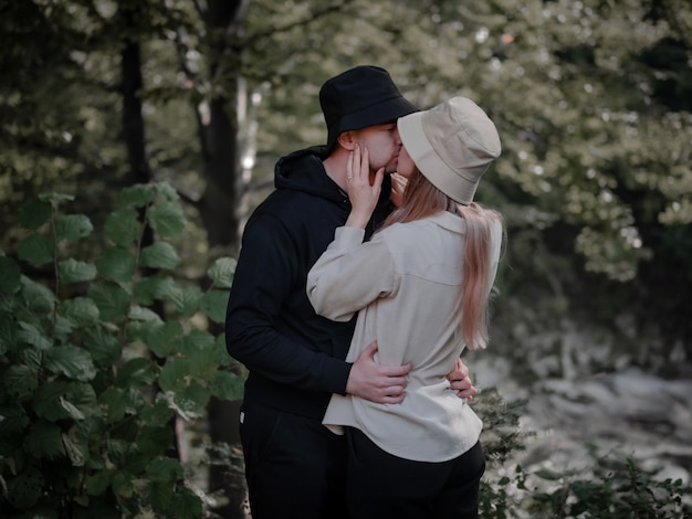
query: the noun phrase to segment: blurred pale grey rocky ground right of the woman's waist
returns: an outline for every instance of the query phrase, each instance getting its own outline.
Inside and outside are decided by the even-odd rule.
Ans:
[[[492,368],[491,368],[492,364]],[[587,379],[546,379],[524,388],[507,366],[474,366],[476,384],[493,385],[505,399],[527,400],[522,427],[535,433],[517,459],[524,470],[581,469],[601,455],[635,457],[661,479],[692,475],[692,380],[664,380],[627,368]]]

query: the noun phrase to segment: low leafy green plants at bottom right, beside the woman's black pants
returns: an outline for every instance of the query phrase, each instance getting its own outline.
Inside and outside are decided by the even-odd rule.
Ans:
[[[483,419],[481,443],[486,472],[481,480],[480,517],[493,519],[598,518],[679,519],[692,517],[692,489],[683,481],[661,479],[632,457],[598,457],[593,468],[525,472],[513,462],[530,433],[521,433],[524,402],[505,402],[494,389],[473,403]],[[581,460],[584,462],[584,460]],[[581,465],[581,463],[580,463]]]

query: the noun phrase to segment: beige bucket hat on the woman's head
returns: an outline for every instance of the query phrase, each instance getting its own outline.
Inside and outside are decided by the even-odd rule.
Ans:
[[[463,205],[473,201],[481,177],[502,150],[495,125],[466,97],[401,117],[397,126],[420,172]]]

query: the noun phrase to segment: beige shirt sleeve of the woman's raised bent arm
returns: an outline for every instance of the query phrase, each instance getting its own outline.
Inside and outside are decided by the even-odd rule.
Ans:
[[[395,266],[381,235],[363,243],[365,232],[338,227],[334,241],[307,274],[307,297],[315,311],[346,321],[395,290]]]

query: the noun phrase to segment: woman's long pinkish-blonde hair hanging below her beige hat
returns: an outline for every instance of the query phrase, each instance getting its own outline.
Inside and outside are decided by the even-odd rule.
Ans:
[[[461,335],[469,348],[485,348],[489,341],[487,322],[492,288],[491,229],[494,222],[502,224],[502,215],[491,209],[483,209],[475,202],[469,205],[458,204],[416,170],[406,184],[401,206],[385,220],[380,230],[394,223],[412,222],[441,211],[454,210],[454,206],[466,223],[461,267],[463,280],[458,308],[462,316]]]

